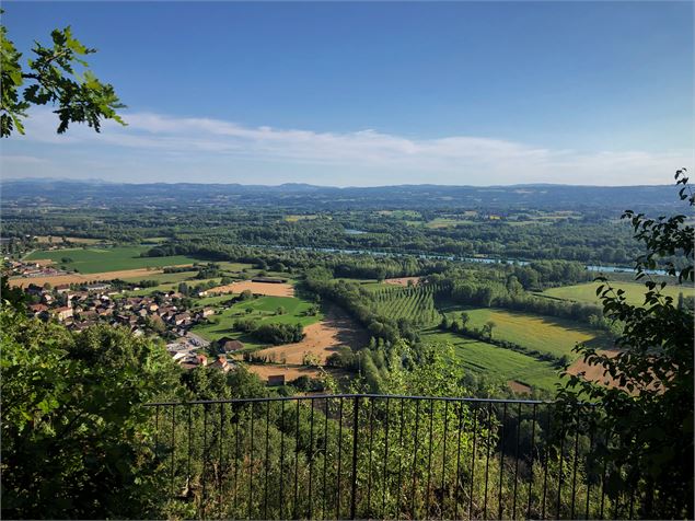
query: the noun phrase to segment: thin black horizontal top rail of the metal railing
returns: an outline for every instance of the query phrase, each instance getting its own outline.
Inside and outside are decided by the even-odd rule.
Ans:
[[[549,400],[514,400],[514,398],[477,398],[477,397],[455,397],[455,396],[409,396],[402,394],[313,394],[301,396],[266,396],[257,398],[229,398],[229,400],[194,400],[190,402],[152,402],[144,404],[147,407],[174,406],[174,405],[204,405],[204,404],[235,404],[250,402],[283,402],[298,400],[331,400],[331,398],[384,398],[384,400],[421,400],[442,402],[464,402],[464,403],[499,403],[499,404],[521,404],[521,405],[547,405],[555,403]],[[593,404],[582,404],[593,405]]]

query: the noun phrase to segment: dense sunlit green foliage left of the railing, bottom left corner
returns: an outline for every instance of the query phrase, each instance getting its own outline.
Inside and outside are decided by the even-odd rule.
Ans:
[[[152,516],[150,410],[175,389],[164,349],[126,329],[71,334],[0,311],[2,510],[8,518]]]

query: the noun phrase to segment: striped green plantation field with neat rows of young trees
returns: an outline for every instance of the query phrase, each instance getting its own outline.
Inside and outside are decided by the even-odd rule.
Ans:
[[[432,287],[398,288],[391,286],[374,291],[377,312],[390,319],[408,319],[416,325],[429,326],[440,322],[435,308]]]

